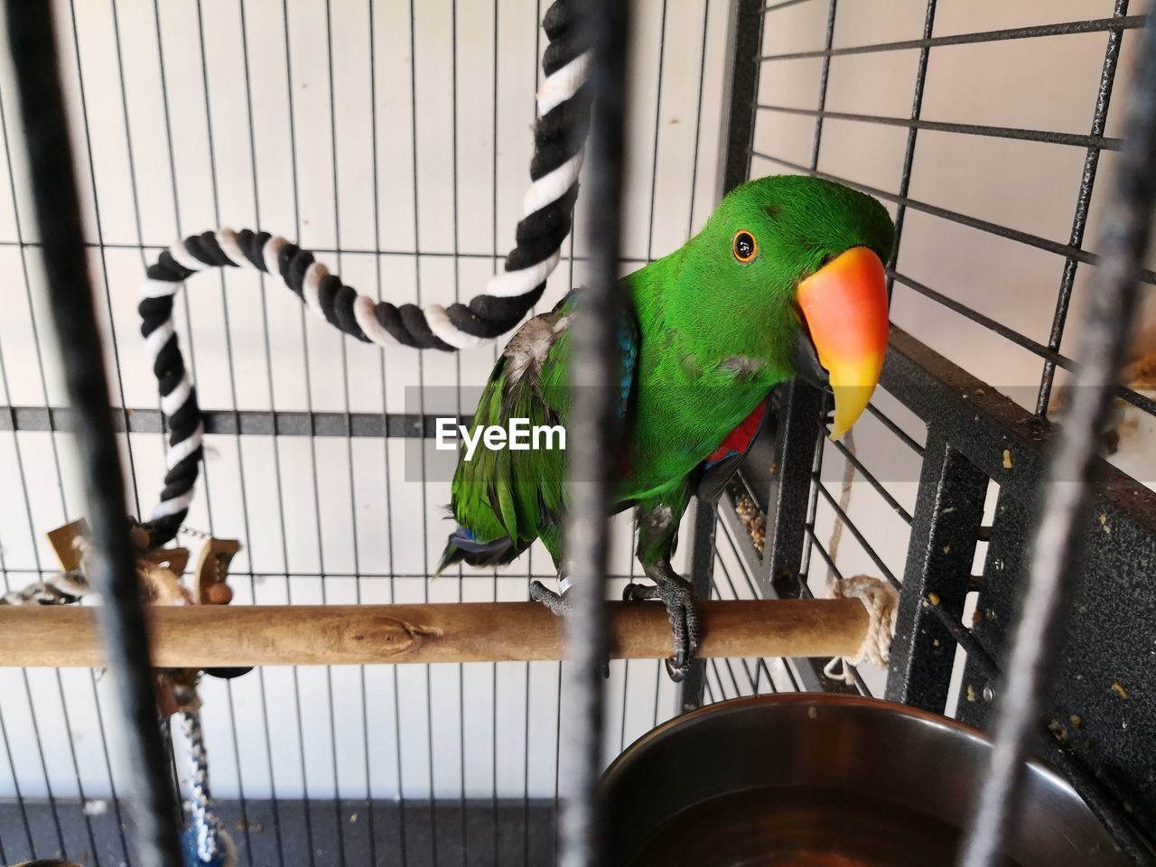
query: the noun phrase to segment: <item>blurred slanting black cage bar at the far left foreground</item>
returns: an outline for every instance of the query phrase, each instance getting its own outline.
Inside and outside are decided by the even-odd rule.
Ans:
[[[103,636],[119,699],[120,736],[135,798],[134,837],[141,864],[180,867],[178,807],[157,719],[144,608],[128,536],[120,469],[109,412],[109,383],[92,287],[81,243],[80,205],[49,3],[7,5],[8,44],[20,89],[49,299],[64,355],[75,444],[81,453],[94,586],[104,596]]]

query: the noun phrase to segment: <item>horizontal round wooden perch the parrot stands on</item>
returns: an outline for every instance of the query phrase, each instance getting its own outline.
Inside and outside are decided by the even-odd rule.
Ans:
[[[662,606],[612,602],[616,659],[670,653]],[[150,608],[153,662],[217,666],[482,662],[562,658],[560,618],[536,602]],[[857,599],[699,602],[703,657],[852,655]],[[102,666],[92,607],[0,607],[0,666]]]

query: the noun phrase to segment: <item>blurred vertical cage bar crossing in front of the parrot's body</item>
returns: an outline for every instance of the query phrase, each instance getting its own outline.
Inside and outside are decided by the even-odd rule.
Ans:
[[[573,328],[575,391],[570,514],[566,558],[575,579],[573,609],[566,623],[570,666],[565,683],[575,710],[565,720],[560,765],[562,777],[563,867],[600,864],[598,779],[602,755],[607,658],[606,573],[609,556],[610,496],[616,442],[615,394],[617,335],[622,298],[615,291],[622,232],[624,123],[627,109],[628,7],[598,0],[586,8],[593,54],[590,87],[590,180],[586,195],[593,215],[587,227],[593,267]]]

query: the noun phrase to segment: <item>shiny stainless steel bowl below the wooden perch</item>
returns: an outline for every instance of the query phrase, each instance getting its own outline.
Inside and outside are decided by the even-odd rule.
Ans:
[[[950,867],[991,743],[854,696],[722,702],[674,719],[602,779],[613,867]],[[1029,765],[1006,851],[1021,867],[1126,867],[1059,777]]]

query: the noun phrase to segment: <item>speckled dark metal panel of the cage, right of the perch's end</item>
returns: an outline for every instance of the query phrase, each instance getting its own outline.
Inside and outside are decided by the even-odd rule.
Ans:
[[[929,428],[947,431],[951,447],[1000,486],[979,587],[979,617],[972,629],[981,646],[1001,662],[1006,631],[1022,594],[1027,546],[1053,429],[898,328],[892,328],[883,385]],[[1053,701],[1044,722],[1053,722],[1080,762],[1149,831],[1156,831],[1156,753],[1151,750],[1156,743],[1156,492],[1102,462],[1087,533],[1083,570],[1066,643],[1055,660]],[[911,615],[904,612],[903,616]],[[913,670],[920,665],[913,662]],[[998,684],[969,660],[959,702],[965,721],[986,726],[985,687],[994,690]],[[891,688],[889,683],[889,692]],[[905,692],[907,688],[896,682],[895,689]]]

